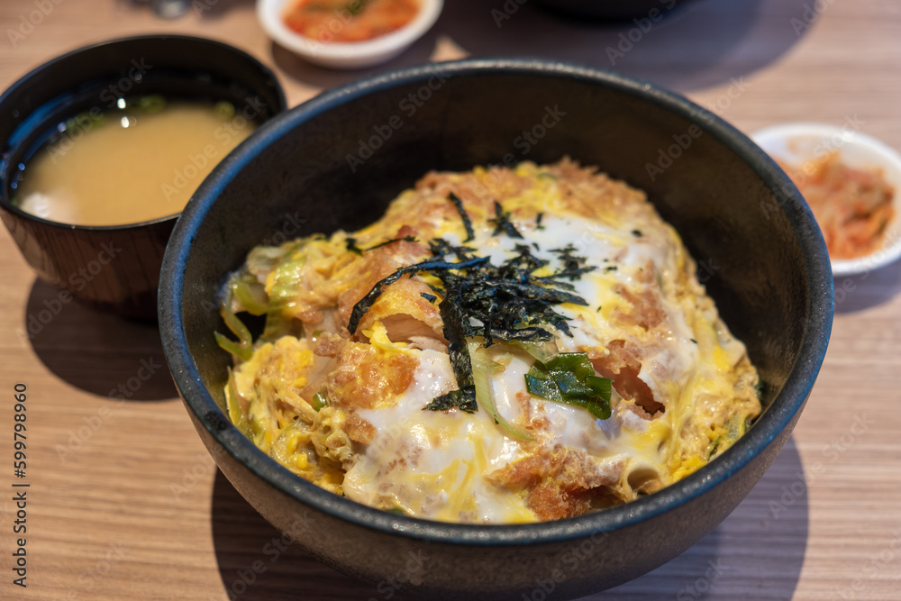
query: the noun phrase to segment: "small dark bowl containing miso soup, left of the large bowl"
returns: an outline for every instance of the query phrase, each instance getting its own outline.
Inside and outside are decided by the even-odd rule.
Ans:
[[[90,125],[79,127],[76,121],[69,133],[61,123],[106,113],[123,96],[150,94],[227,100],[236,108],[234,119],[247,115],[259,123],[286,108],[267,67],[218,41],[151,35],[73,50],[35,68],[0,96],[0,217],[42,279],[100,308],[155,319],[159,267],[177,213],[92,227],[42,219],[13,203],[20,165],[51,136],[74,141]],[[199,182],[186,179],[185,185]]]

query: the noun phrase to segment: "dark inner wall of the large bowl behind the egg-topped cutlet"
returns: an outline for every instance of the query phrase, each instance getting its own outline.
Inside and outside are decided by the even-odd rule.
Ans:
[[[357,229],[430,169],[569,155],[645,190],[676,226],[702,283],[748,345],[769,405],[809,335],[811,269],[822,267],[809,214],[774,196],[755,170],[794,191],[778,168],[712,115],[614,76],[597,86],[575,69],[457,70],[437,66],[410,81],[384,78],[319,98],[264,127],[254,148],[198,192],[194,224],[186,224],[196,236],[185,249],[192,286],[182,309],[214,398],[222,400],[229,358],[214,348],[209,334],[222,324],[205,307],[253,246]]]

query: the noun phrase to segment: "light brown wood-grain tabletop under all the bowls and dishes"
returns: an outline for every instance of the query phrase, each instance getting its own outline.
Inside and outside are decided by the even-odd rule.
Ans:
[[[616,26],[560,21],[533,3],[513,13],[513,0],[448,4],[432,32],[384,68],[467,55],[578,60],[675,88],[746,132],[854,120],[901,149],[896,0],[697,0],[659,23]],[[492,9],[505,5],[510,18],[498,26]],[[275,68],[290,105],[382,69],[306,65],[268,40],[248,0],[194,6],[162,21],[146,0],[4,0],[0,88],[64,51],[148,32],[248,50]],[[35,279],[5,230],[0,282],[0,598],[388,598],[295,547],[273,560],[267,545],[278,533],[215,469],[155,328],[70,303],[23,335],[57,293]],[[694,548],[593,598],[901,599],[901,411],[892,405],[901,387],[901,265],[836,284],[844,288],[832,344],[775,465]],[[141,384],[131,399],[110,398],[130,380]],[[28,395],[24,479],[11,465],[17,383]],[[27,490],[25,534],[13,530],[20,482],[31,485],[18,489]],[[26,588],[13,584],[19,537]]]

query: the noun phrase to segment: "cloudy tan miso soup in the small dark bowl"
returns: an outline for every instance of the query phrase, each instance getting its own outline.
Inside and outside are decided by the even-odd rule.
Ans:
[[[140,223],[185,208],[200,182],[256,128],[227,102],[119,100],[82,114],[26,162],[23,211],[60,223]]]

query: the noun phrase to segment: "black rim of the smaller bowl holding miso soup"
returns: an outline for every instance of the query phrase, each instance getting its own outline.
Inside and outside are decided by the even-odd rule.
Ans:
[[[41,73],[45,71],[45,69],[52,68],[54,65],[58,65],[64,61],[77,59],[77,56],[86,51],[93,51],[105,47],[116,46],[124,43],[139,43],[141,41],[145,42],[166,42],[166,41],[183,41],[186,43],[198,44],[202,46],[206,46],[207,48],[215,48],[218,51],[228,51],[232,53],[232,55],[236,57],[240,57],[241,59],[247,60],[254,68],[259,69],[259,72],[263,75],[263,77],[268,77],[272,81],[275,82],[275,91],[278,99],[278,106],[273,107],[273,117],[277,114],[283,113],[287,110],[287,98],[285,96],[285,90],[278,82],[278,77],[275,72],[268,68],[265,64],[263,64],[259,59],[251,55],[249,52],[245,50],[241,50],[236,46],[232,46],[224,41],[213,40],[211,38],[202,38],[196,35],[180,35],[176,33],[148,33],[142,35],[131,35],[124,36],[121,38],[114,38],[112,40],[104,40],[98,41],[93,44],[88,44],[86,46],[78,47],[74,50],[68,50],[67,52],[60,54],[50,60],[42,62],[37,67],[32,68],[27,73],[25,73],[22,77],[19,77],[7,87],[2,95],[0,95],[0,106],[3,106],[5,102],[9,101],[10,98],[13,98],[18,93],[19,89],[25,86],[28,86],[29,83],[35,77],[41,77]],[[62,93],[60,93],[62,94]],[[35,110],[40,111],[41,107],[45,106],[47,103],[52,102],[54,98],[58,97],[53,96],[52,98],[46,100],[42,105],[37,107]],[[14,130],[15,132],[15,130]],[[5,145],[7,141],[2,141]],[[0,149],[2,150],[2,149]],[[227,157],[228,155],[226,155]],[[224,160],[223,157],[222,160]],[[5,173],[7,173],[13,166],[6,163],[5,157],[0,157],[0,178],[3,177]],[[23,211],[17,205],[13,205],[10,202],[10,199],[6,198],[6,195],[3,190],[0,190],[0,210],[6,211],[10,214],[14,214],[17,217],[26,219],[28,221],[33,221],[36,223],[41,223],[43,226],[54,227],[63,230],[84,230],[88,232],[121,232],[132,229],[140,229],[143,227],[147,227],[150,225],[154,225],[156,223],[168,222],[170,220],[177,219],[178,216],[182,213],[178,211],[177,213],[172,213],[168,215],[162,215],[160,217],[154,217],[153,219],[145,219],[140,222],[132,222],[132,223],[121,223],[114,225],[82,225],[78,223],[66,223],[54,221],[52,219],[47,219],[46,217],[41,217],[36,214],[28,213],[27,211]]]

